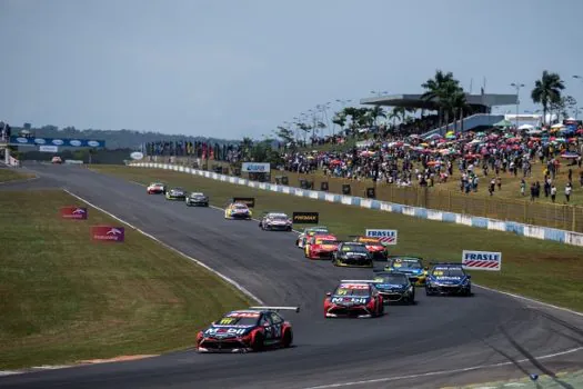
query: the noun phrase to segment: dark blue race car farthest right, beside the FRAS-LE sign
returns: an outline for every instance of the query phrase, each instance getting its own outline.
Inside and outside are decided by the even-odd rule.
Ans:
[[[425,293],[472,296],[471,278],[461,263],[435,263],[429,272]]]

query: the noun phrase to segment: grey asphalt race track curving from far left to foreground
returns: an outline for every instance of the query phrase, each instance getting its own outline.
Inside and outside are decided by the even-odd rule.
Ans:
[[[234,279],[265,303],[302,310],[284,315],[294,329],[290,349],[187,350],[0,377],[2,388],[439,388],[583,366],[581,316],[474,288],[472,298],[428,298],[418,289],[416,306],[390,306],[378,319],[324,319],[324,293],[340,279],[369,279],[370,269],[309,261],[294,247],[293,232],[224,220],[215,209],[148,196],[138,184],[82,167],[29,169],[40,178],[0,190],[67,188]]]

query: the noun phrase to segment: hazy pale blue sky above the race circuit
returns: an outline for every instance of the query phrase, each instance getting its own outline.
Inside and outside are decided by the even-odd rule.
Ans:
[[[583,107],[582,14],[581,0],[0,0],[0,120],[260,138],[336,99],[421,93],[436,69],[474,93],[524,83],[521,112],[546,69]]]

